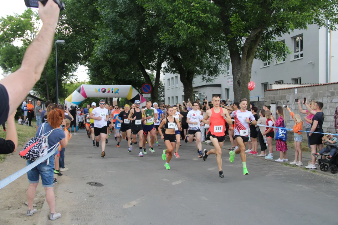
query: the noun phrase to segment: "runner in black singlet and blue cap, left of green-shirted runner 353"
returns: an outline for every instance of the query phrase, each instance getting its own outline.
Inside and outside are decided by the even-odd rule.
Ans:
[[[142,122],[145,120],[145,113],[143,109],[140,109],[140,101],[135,100],[135,108],[131,109],[129,112],[128,119],[131,120],[131,134],[132,139],[131,143],[136,143],[136,135],[139,135],[139,147],[140,153],[139,156],[143,157],[142,154],[142,145],[143,145],[143,129],[142,129]],[[143,115],[143,116],[142,116]],[[145,154],[147,151],[145,151]]]

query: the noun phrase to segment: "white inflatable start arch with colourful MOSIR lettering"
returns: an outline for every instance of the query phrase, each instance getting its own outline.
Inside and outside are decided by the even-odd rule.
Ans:
[[[65,104],[80,105],[87,97],[125,97],[131,103],[135,100],[141,102],[141,106],[145,106],[146,99],[131,85],[94,85],[82,84],[65,100]]]

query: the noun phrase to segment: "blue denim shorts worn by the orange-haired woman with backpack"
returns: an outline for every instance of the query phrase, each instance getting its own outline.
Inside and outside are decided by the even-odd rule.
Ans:
[[[31,163],[33,163],[33,161],[27,160],[26,165],[28,166]],[[39,183],[39,175],[41,176],[42,187],[50,188],[54,186],[54,156],[49,158],[48,165],[46,160],[27,172],[29,184]]]

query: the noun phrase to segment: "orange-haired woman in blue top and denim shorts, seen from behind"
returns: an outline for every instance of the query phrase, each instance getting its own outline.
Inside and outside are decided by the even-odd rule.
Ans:
[[[55,144],[60,143],[61,147],[66,147],[68,139],[65,138],[65,132],[58,128],[63,123],[64,112],[60,109],[53,109],[48,112],[47,120],[48,123],[43,123],[39,126],[36,135],[39,135],[41,130],[41,133],[43,134],[48,134],[50,132],[50,135],[48,136],[49,146],[54,146]],[[56,148],[57,147],[58,146],[56,146]],[[33,161],[27,160],[27,166],[31,163],[33,163]],[[55,211],[55,196],[53,192],[54,155],[49,157],[48,165],[47,160],[45,160],[27,172],[29,186],[27,191],[28,210],[26,216],[32,216],[37,212],[37,209],[33,209],[33,200],[40,176],[42,180],[42,187],[44,187],[46,191],[46,200],[50,208],[49,219],[56,220],[61,217],[61,214],[56,213]]]

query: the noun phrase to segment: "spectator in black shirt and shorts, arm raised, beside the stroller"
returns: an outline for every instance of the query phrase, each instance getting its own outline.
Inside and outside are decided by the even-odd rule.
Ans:
[[[312,162],[305,168],[317,169],[315,165],[317,157],[315,157],[312,153],[317,153],[317,147],[319,150],[323,149],[322,137],[324,136],[324,134],[317,134],[313,132],[324,133],[322,129],[322,125],[323,125],[325,116],[324,116],[324,113],[321,111],[321,109],[323,108],[323,103],[322,102],[315,103],[316,111],[312,110],[309,107],[309,105],[307,104],[307,101],[304,104],[307,110],[311,114],[314,115],[312,118],[311,130],[309,134]]]

